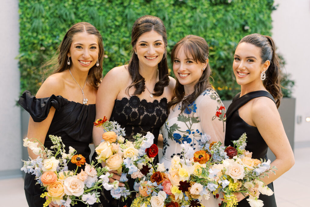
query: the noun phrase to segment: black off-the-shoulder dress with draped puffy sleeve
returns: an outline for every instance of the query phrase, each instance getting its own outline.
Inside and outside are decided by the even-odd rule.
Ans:
[[[36,98],[29,91],[24,91],[18,103],[29,112],[35,122],[46,119],[51,106],[53,106],[56,111],[47,131],[44,146],[50,149],[53,145],[48,135],[61,137],[66,152],[69,151],[69,146],[72,146],[77,154],[83,155],[86,163],[89,163],[91,153],[89,144],[92,141],[92,129],[96,113],[95,104],[84,105],[55,95],[47,98]],[[82,165],[78,171],[84,167],[85,165]],[[76,165],[69,162],[68,168],[75,170]],[[24,182],[26,199],[30,207],[42,207],[46,201],[45,198],[40,197],[43,189],[40,184],[35,184],[34,178],[34,175],[26,174]],[[74,206],[84,207],[86,205],[78,203]],[[97,204],[91,206],[97,206]]]

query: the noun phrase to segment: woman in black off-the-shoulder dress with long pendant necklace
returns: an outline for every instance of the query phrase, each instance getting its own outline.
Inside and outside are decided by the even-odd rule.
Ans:
[[[67,152],[72,146],[89,163],[95,101],[104,57],[102,37],[93,25],[77,23],[65,34],[58,53],[54,73],[44,81],[36,97],[25,91],[18,101],[31,115],[27,137],[36,138],[50,148],[53,144],[48,135],[60,136]],[[32,159],[37,158],[30,149],[28,153]],[[68,167],[76,169],[72,163],[68,163]],[[40,197],[43,190],[35,183],[34,175],[26,174],[26,199],[31,207],[42,207],[46,200]],[[51,202],[49,206],[58,205]],[[74,206],[86,205],[79,202]]]

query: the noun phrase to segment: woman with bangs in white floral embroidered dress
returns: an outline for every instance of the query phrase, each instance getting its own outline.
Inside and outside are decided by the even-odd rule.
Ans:
[[[201,135],[210,135],[210,143],[224,143],[225,107],[209,82],[209,47],[204,38],[188,35],[172,49],[171,61],[177,78],[175,98],[168,104],[168,119],[162,126],[163,157],[160,163],[169,168],[174,155],[180,155],[180,144],[190,143],[199,150]],[[205,206],[218,206],[212,195],[202,198]]]

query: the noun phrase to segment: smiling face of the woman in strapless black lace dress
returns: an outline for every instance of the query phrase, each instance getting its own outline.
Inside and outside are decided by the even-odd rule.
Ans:
[[[139,67],[157,68],[165,52],[162,35],[153,30],[145,32],[138,38],[135,52],[139,58]]]

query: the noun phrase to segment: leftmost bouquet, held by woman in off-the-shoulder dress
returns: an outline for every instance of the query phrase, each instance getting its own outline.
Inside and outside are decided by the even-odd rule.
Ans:
[[[100,190],[104,184],[105,173],[108,168],[96,167],[94,162],[87,164],[85,157],[76,154],[76,150],[69,146],[69,153],[66,154],[61,137],[49,135],[52,143],[49,150],[38,140],[32,142],[24,139],[24,146],[29,147],[36,159],[23,161],[21,168],[25,173],[35,175],[35,179],[45,192],[41,197],[47,200],[43,206],[53,201],[60,206],[69,207],[81,201],[87,206],[99,202]],[[43,148],[43,149],[42,149]],[[76,170],[68,170],[67,163],[77,165]],[[85,169],[77,173],[78,168],[85,164]]]

